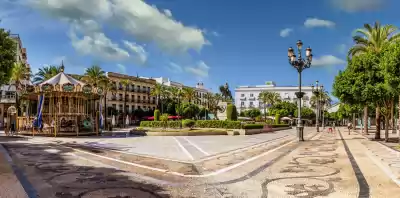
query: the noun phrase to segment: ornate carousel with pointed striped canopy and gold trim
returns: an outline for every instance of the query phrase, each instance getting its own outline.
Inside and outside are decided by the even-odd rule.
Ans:
[[[99,135],[100,99],[103,90],[61,72],[49,80],[28,86],[23,94],[28,104],[36,104],[34,115],[18,117],[17,130],[22,135],[86,136]]]

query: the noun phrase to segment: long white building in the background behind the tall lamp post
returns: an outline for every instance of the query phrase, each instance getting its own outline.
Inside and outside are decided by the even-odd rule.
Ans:
[[[281,100],[289,101],[297,104],[298,99],[296,92],[299,91],[299,87],[296,86],[276,86],[274,82],[267,81],[265,85],[256,86],[239,86],[235,89],[235,105],[239,112],[251,109],[259,108],[261,112],[264,111],[264,104],[258,101],[258,95],[263,91],[270,91],[279,93]],[[312,96],[312,87],[303,86],[301,91],[305,93],[302,99],[303,107],[310,107],[310,98]]]

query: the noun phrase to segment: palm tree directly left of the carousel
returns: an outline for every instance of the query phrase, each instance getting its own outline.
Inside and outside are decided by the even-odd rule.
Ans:
[[[29,80],[31,76],[31,71],[28,67],[26,67],[25,64],[22,63],[14,63],[13,68],[11,70],[11,78],[10,84],[14,84],[16,88],[15,92],[15,103],[17,106],[17,109],[20,107],[19,105],[19,97],[18,97],[18,92],[19,90],[22,89],[22,85],[26,85],[27,81]],[[22,111],[22,109],[20,109]]]

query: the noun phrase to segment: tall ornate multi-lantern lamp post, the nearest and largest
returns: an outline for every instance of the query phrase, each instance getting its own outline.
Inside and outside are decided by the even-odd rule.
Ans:
[[[301,99],[303,98],[304,93],[301,92],[301,72],[303,70],[311,67],[311,62],[312,62],[311,51],[312,50],[310,47],[308,47],[306,49],[306,59],[303,59],[301,56],[301,49],[303,47],[303,42],[301,42],[301,40],[299,40],[299,41],[297,41],[296,45],[297,45],[297,53],[298,53],[299,57],[297,57],[297,59],[296,59],[294,50],[293,50],[293,48],[290,47],[288,50],[288,58],[289,58],[290,65],[292,65],[299,74],[299,92],[296,92],[296,96],[299,100],[299,102],[298,102],[299,107],[298,107],[298,111],[297,111],[298,121],[297,121],[296,129],[297,129],[297,136],[299,138],[299,141],[304,141],[304,136],[303,136],[304,126],[303,126],[303,122],[301,120]]]

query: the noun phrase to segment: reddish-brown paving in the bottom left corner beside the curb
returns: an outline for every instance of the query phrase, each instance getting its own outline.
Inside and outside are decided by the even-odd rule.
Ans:
[[[10,156],[0,144],[0,197],[28,198],[12,167]]]

